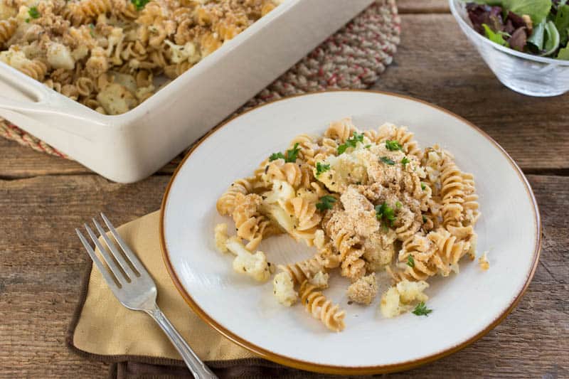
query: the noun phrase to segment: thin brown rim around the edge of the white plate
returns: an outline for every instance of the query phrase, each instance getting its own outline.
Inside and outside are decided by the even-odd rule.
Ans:
[[[257,110],[260,107],[265,107],[265,105],[270,105],[273,102],[288,100],[291,97],[309,96],[309,95],[321,94],[321,93],[326,93],[326,92],[371,92],[371,93],[377,93],[380,95],[401,97],[405,100],[411,100],[414,102],[420,102],[423,105],[428,105],[432,108],[435,108],[436,110],[440,110],[442,112],[445,112],[446,114],[450,114],[450,116],[452,116],[456,119],[459,119],[460,121],[464,122],[464,124],[467,124],[469,127],[472,127],[472,129],[476,130],[477,132],[482,134],[483,137],[488,139],[489,142],[491,142],[491,144],[494,144],[494,146],[496,146],[496,148],[499,149],[499,151],[501,151],[502,154],[504,154],[506,159],[508,159],[509,163],[514,168],[514,170],[518,174],[519,178],[521,179],[521,181],[525,185],[526,192],[528,193],[528,196],[531,200],[531,203],[533,204],[534,221],[536,224],[536,245],[535,245],[534,250],[533,250],[533,264],[532,264],[531,269],[528,272],[528,275],[526,277],[526,283],[523,285],[523,288],[521,289],[519,294],[516,295],[516,298],[513,301],[511,301],[508,308],[502,314],[500,314],[498,317],[496,317],[496,319],[494,319],[494,321],[492,321],[489,324],[489,326],[486,327],[486,329],[480,331],[479,333],[468,338],[466,341],[459,343],[456,346],[452,346],[451,348],[447,348],[447,350],[440,351],[439,353],[435,353],[435,354],[432,354],[431,356],[426,356],[424,358],[416,359],[414,361],[406,361],[406,362],[395,363],[395,364],[391,364],[391,365],[355,366],[355,367],[341,366],[341,365],[322,365],[319,363],[311,363],[311,362],[302,361],[299,359],[289,358],[287,356],[282,356],[280,354],[273,353],[272,351],[268,351],[265,348],[261,348],[260,346],[256,346],[253,343],[250,343],[249,341],[245,340],[245,338],[242,338],[242,337],[236,335],[235,333],[229,331],[228,329],[225,329],[225,327],[223,325],[218,324],[218,322],[215,319],[213,319],[213,317],[211,317],[209,314],[207,314],[205,311],[203,311],[203,309],[201,309],[201,307],[195,301],[193,301],[191,295],[188,294],[188,292],[186,292],[186,289],[184,289],[184,287],[182,286],[180,279],[176,275],[176,272],[174,272],[174,267],[172,267],[172,264],[171,264],[170,258],[169,258],[169,253],[168,253],[168,250],[166,249],[166,240],[164,239],[164,209],[166,208],[166,201],[168,200],[170,188],[172,186],[172,183],[174,183],[174,180],[176,179],[176,175],[179,173],[181,166],[184,165],[184,163],[186,162],[188,157],[191,156],[193,151],[195,151],[196,148],[203,141],[205,141],[208,137],[211,137],[211,135],[213,133],[215,133],[216,131],[218,131],[222,127],[224,127],[226,124],[233,121],[233,119],[240,117],[240,115],[251,112],[252,110]],[[531,282],[531,279],[533,278],[533,274],[536,272],[536,268],[538,266],[539,254],[541,251],[541,218],[539,215],[539,209],[538,209],[538,205],[536,202],[536,198],[533,195],[533,191],[531,190],[531,186],[529,185],[526,176],[523,175],[523,172],[521,171],[519,166],[516,164],[514,159],[512,159],[511,156],[509,156],[509,154],[504,150],[504,148],[502,148],[496,141],[494,141],[494,139],[492,139],[482,129],[480,129],[476,125],[472,124],[471,122],[467,121],[466,119],[458,116],[457,114],[454,114],[448,110],[445,110],[442,107],[438,107],[437,105],[432,105],[429,102],[425,102],[423,100],[418,100],[418,99],[415,99],[413,97],[405,96],[405,95],[398,95],[398,94],[394,94],[394,93],[377,91],[377,90],[331,90],[331,91],[329,90],[329,91],[311,92],[309,94],[289,96],[289,97],[285,97],[285,98],[280,99],[280,100],[275,100],[273,102],[267,102],[266,104],[254,107],[251,110],[248,110],[247,112],[244,112],[242,114],[238,114],[235,117],[231,117],[227,121],[223,122],[222,124],[219,124],[217,127],[214,127],[213,129],[211,129],[210,132],[208,132],[203,138],[201,138],[200,141],[197,142],[191,148],[190,151],[188,151],[188,154],[186,154],[184,159],[180,162],[179,166],[176,168],[176,171],[174,171],[174,174],[172,175],[172,177],[168,183],[168,186],[166,187],[166,192],[164,193],[164,198],[162,198],[162,203],[161,203],[161,207],[160,207],[159,235],[160,235],[160,246],[161,246],[161,250],[162,250],[162,257],[164,258],[164,264],[166,265],[166,269],[168,269],[168,272],[170,274],[172,282],[174,282],[174,285],[176,286],[176,288],[180,292],[181,296],[184,298],[186,303],[188,303],[188,305],[191,307],[191,309],[194,312],[196,312],[196,314],[198,314],[198,316],[200,316],[201,319],[203,319],[203,321],[206,321],[206,323],[209,324],[210,326],[212,326],[213,329],[216,329],[216,331],[223,334],[223,336],[225,336],[226,338],[229,338],[230,341],[233,341],[234,343],[237,343],[238,345],[243,346],[244,348],[248,349],[249,351],[252,351],[253,353],[257,354],[258,356],[261,356],[262,358],[266,358],[270,361],[280,363],[282,365],[287,365],[287,366],[291,366],[294,368],[299,368],[301,370],[316,371],[319,373],[340,374],[340,375],[369,375],[369,374],[379,374],[379,373],[393,373],[395,371],[401,371],[401,370],[410,370],[411,368],[418,367],[419,365],[424,365],[425,363],[430,363],[432,361],[436,361],[437,359],[448,356],[452,353],[456,353],[460,349],[468,346],[469,344],[473,343],[474,341],[477,341],[479,338],[482,338],[482,336],[484,336],[486,333],[488,333],[489,331],[494,329],[496,326],[498,326],[498,324],[500,324],[501,321],[504,321],[504,319],[506,319],[506,316],[508,316],[508,314],[516,307],[516,305],[521,300],[521,297],[523,296],[523,294],[528,289],[528,286]]]

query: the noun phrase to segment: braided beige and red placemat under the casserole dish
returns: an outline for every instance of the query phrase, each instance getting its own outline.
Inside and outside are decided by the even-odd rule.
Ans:
[[[400,29],[395,0],[377,0],[249,100],[238,113],[290,95],[373,85],[393,59]],[[0,136],[36,151],[70,159],[1,118]]]

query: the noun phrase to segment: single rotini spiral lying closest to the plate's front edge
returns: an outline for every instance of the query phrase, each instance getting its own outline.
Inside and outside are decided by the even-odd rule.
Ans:
[[[340,310],[338,304],[332,304],[326,299],[317,287],[307,281],[300,286],[300,300],[314,319],[318,319],[331,331],[342,331],[346,327],[344,323],[345,311]]]

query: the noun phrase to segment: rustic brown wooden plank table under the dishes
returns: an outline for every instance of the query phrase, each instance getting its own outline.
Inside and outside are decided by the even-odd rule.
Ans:
[[[567,378],[569,95],[541,99],[503,87],[459,31],[446,0],[400,0],[399,9],[400,48],[374,88],[445,107],[504,146],[533,186],[543,245],[533,282],[501,325],[459,353],[394,376]],[[117,184],[0,139],[1,378],[106,375],[105,364],[65,347],[88,259],[73,228],[101,210],[121,224],[158,209],[173,169]]]

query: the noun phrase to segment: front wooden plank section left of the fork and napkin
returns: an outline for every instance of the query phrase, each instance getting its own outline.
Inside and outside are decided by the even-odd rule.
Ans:
[[[160,206],[168,176],[127,186],[100,176],[0,181],[0,378],[102,378],[65,347],[89,259],[73,228],[104,211],[122,224]]]

